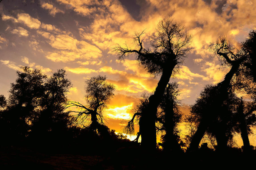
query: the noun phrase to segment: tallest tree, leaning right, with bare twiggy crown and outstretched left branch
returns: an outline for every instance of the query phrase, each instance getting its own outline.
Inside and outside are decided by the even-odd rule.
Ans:
[[[168,17],[160,20],[156,27],[156,32],[150,37],[151,48],[143,47],[142,33],[135,33],[134,41],[138,49],[130,49],[118,45],[113,48],[117,53],[119,61],[125,60],[131,54],[136,55],[139,66],[142,66],[151,75],[160,75],[160,80],[148,99],[146,115],[144,121],[147,130],[141,133],[141,145],[144,148],[154,150],[156,148],[156,113],[158,105],[164,95],[164,91],[173,72],[176,72],[190,50],[189,45],[192,35],[183,32],[184,26],[180,23],[173,23]]]

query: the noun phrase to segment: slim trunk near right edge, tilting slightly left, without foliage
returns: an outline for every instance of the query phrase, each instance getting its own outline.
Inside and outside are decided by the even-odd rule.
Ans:
[[[241,100],[241,104],[238,108],[238,114],[239,114],[239,128],[241,131],[241,137],[243,140],[243,148],[244,151],[248,151],[250,149],[250,141],[247,133],[247,127],[245,122],[245,115],[243,113],[243,100]]]

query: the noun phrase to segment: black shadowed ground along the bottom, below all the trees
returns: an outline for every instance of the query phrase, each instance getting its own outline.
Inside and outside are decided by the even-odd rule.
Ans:
[[[0,169],[204,169],[255,166],[255,151],[244,154],[238,149],[226,153],[198,150],[191,153],[154,155],[138,148],[120,148],[110,154],[72,154],[33,150],[22,147],[2,147]]]

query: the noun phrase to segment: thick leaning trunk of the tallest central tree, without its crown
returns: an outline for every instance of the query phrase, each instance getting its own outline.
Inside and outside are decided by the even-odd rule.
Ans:
[[[152,96],[149,97],[148,107],[146,108],[146,115],[144,116],[144,122],[146,123],[145,130],[141,133],[141,146],[147,150],[156,149],[156,112],[157,107],[162,100],[165,88],[170,81],[172,71],[176,66],[176,62],[163,69],[162,76],[157,84],[156,90]],[[144,129],[143,128],[143,129]]]

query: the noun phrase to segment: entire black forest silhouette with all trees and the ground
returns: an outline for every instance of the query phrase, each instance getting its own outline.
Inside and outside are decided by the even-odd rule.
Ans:
[[[254,135],[252,127],[256,126],[256,31],[251,30],[240,47],[229,44],[225,36],[210,43],[212,57],[229,72],[223,81],[205,85],[190,106],[190,114],[183,115],[178,83],[170,80],[191,50],[193,36],[184,29],[170,17],[164,18],[150,37],[150,48],[143,46],[144,32],[136,32],[137,48],[117,45],[112,49],[119,61],[135,56],[139,67],[160,77],[156,89],[141,96],[132,119],[125,122],[123,133],[127,135],[134,135],[135,126],[139,126],[133,141],[105,124],[104,110],[115,91],[106,76],[96,75],[84,82],[86,101],[70,101],[67,93],[72,82],[64,69],[47,76],[40,69],[21,67],[11,83],[9,97],[0,95],[1,165],[55,169],[43,160],[51,157],[51,161],[57,161],[62,159],[59,154],[73,155],[68,160],[71,165],[77,158],[77,169],[166,165],[170,169],[183,162],[187,167],[205,167],[216,162],[234,163],[234,157],[240,163],[250,162],[256,153],[248,137]],[[238,93],[249,96],[249,100]],[[185,136],[179,129],[182,122],[188,130]],[[161,136],[159,143],[157,134]],[[243,140],[241,148],[234,141],[235,135]],[[33,155],[40,160],[32,159]],[[88,156],[98,157],[89,163]]]

